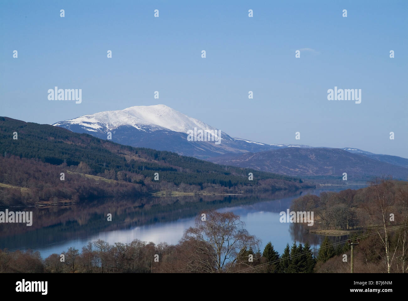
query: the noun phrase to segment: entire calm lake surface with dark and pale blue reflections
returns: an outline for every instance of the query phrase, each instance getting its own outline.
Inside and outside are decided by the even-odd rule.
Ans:
[[[81,251],[89,241],[103,239],[129,243],[133,239],[176,244],[184,230],[194,226],[195,217],[202,210],[213,208],[220,212],[233,211],[245,222],[251,235],[262,240],[261,250],[271,241],[280,254],[286,243],[309,241],[312,248],[320,245],[321,235],[305,233],[305,227],[294,223],[280,223],[279,212],[290,208],[293,199],[307,193],[359,189],[364,186],[324,186],[312,190],[250,194],[245,196],[206,196],[142,199],[109,199],[87,204],[50,206],[48,208],[9,208],[13,211],[33,211],[33,226],[1,224],[0,248],[10,251],[31,249],[42,258],[60,254],[69,247]],[[1,209],[3,210],[3,209]],[[112,221],[107,221],[107,214]],[[332,237],[342,241],[346,236]]]

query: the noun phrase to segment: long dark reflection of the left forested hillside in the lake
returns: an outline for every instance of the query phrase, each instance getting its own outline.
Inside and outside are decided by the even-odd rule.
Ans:
[[[86,238],[102,231],[129,229],[158,222],[195,217],[203,210],[250,206],[259,202],[297,197],[301,190],[246,195],[197,195],[143,197],[137,199],[98,199],[84,204],[18,208],[33,211],[33,225],[4,224],[0,228],[0,249],[22,246],[42,248],[50,243]],[[271,206],[279,206],[280,201]],[[270,208],[268,208],[270,210]],[[278,210],[278,209],[277,209]],[[107,214],[112,221],[107,222]]]

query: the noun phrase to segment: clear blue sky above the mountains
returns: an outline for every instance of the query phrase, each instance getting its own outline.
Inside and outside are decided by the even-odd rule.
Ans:
[[[165,104],[232,137],[408,157],[407,15],[407,1],[2,0],[0,116]],[[82,103],[48,100],[54,86]],[[335,86],[361,104],[327,100]]]

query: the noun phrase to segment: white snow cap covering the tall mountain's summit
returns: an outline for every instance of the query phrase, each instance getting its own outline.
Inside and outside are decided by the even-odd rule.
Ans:
[[[79,125],[89,131],[113,130],[120,126],[133,126],[138,129],[150,130],[169,129],[175,132],[187,133],[188,130],[216,130],[200,120],[188,117],[164,104],[153,106],[131,106],[124,110],[104,111],[91,115],[84,115],[71,120],[53,124]]]

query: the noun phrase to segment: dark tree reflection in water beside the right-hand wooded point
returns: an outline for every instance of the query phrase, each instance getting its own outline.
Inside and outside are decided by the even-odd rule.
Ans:
[[[319,248],[324,240],[325,235],[308,233],[308,227],[311,228],[311,226],[308,226],[307,223],[290,223],[290,237],[293,241],[301,242],[303,244],[309,242],[313,249]],[[348,237],[349,235],[337,235],[329,236],[328,238],[331,243],[338,243],[340,241],[347,241]],[[344,243],[341,243],[341,245],[344,245]],[[337,245],[334,247],[337,248]],[[317,252],[315,252],[315,255],[317,255]]]

